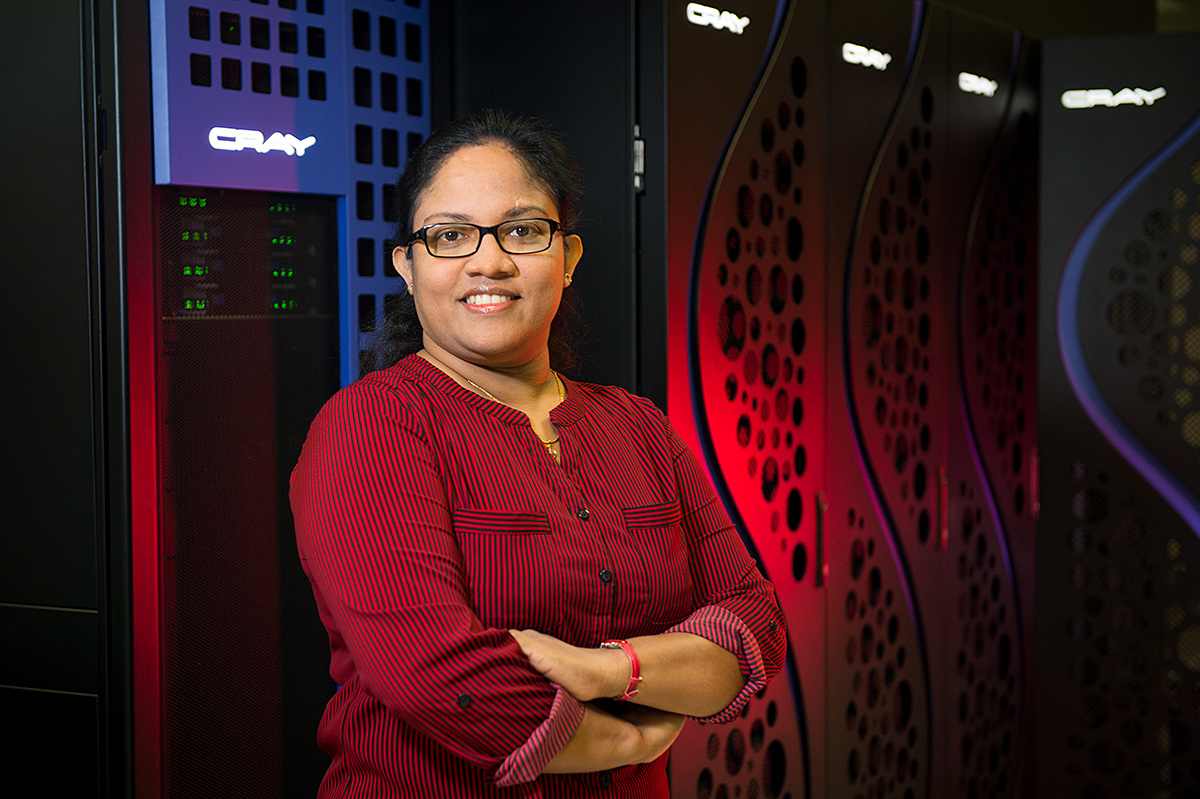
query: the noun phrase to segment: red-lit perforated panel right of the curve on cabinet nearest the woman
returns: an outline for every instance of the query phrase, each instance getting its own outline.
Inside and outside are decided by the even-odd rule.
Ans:
[[[823,723],[823,662],[806,645],[824,626],[816,553],[824,477],[823,98],[814,89],[824,48],[810,24],[822,13],[815,4],[788,4],[779,20],[766,70],[714,164],[690,272],[686,389],[700,444],[775,584],[792,641],[786,673],[731,733],[750,741],[755,768],[703,763],[697,797],[709,795],[708,774],[730,797],[810,795],[810,731]],[[692,795],[690,775],[672,769],[674,789]]]

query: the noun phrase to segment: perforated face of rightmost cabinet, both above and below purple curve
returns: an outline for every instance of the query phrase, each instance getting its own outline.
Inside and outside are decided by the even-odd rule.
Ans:
[[[1087,332],[1074,346],[1091,366],[1096,402],[1121,422],[1110,440],[1146,453],[1129,474],[1111,455],[1080,451],[1073,491],[1054,494],[1055,518],[1070,519],[1051,539],[1068,559],[1070,587],[1057,606],[1067,614],[1058,645],[1069,653],[1073,705],[1060,734],[1084,797],[1200,793],[1200,542],[1192,519],[1154,491],[1194,497],[1200,487],[1192,431],[1200,352],[1189,347],[1200,300],[1188,263],[1200,235],[1187,228],[1198,143],[1193,134],[1145,175],[1081,266],[1079,329]]]

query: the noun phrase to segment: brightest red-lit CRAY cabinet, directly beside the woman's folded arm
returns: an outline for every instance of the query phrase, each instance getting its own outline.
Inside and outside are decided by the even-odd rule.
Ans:
[[[689,797],[826,792],[824,10],[774,5],[736,6],[740,35],[682,4],[665,24],[667,410],[774,582],[792,641],[742,721],[677,741],[672,786]],[[725,54],[751,35],[757,53]]]

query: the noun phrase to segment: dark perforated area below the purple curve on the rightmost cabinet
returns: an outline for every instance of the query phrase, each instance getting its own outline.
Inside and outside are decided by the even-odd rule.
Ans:
[[[1165,509],[1132,477],[1076,462],[1070,485],[1074,525],[1051,542],[1069,564],[1067,584],[1058,578],[1060,773],[1090,799],[1196,795],[1200,543],[1156,523]]]

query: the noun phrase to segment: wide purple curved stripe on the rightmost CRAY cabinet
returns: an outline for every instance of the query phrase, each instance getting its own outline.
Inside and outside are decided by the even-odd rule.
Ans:
[[[1194,116],[1182,131],[1154,154],[1146,163],[1134,172],[1105,202],[1091,218],[1075,240],[1067,257],[1058,287],[1058,352],[1062,354],[1063,370],[1070,383],[1075,398],[1084,411],[1099,428],[1100,433],[1116,447],[1126,461],[1154,487],[1156,491],[1175,509],[1192,531],[1200,535],[1200,503],[1196,495],[1171,474],[1154,455],[1139,441],[1124,422],[1116,415],[1104,397],[1099,386],[1092,379],[1084,359],[1082,342],[1079,338],[1079,287],[1084,277],[1087,257],[1096,246],[1096,239],[1108,224],[1117,208],[1129,194],[1141,185],[1156,169],[1175,155],[1189,139],[1200,132],[1200,114]]]

